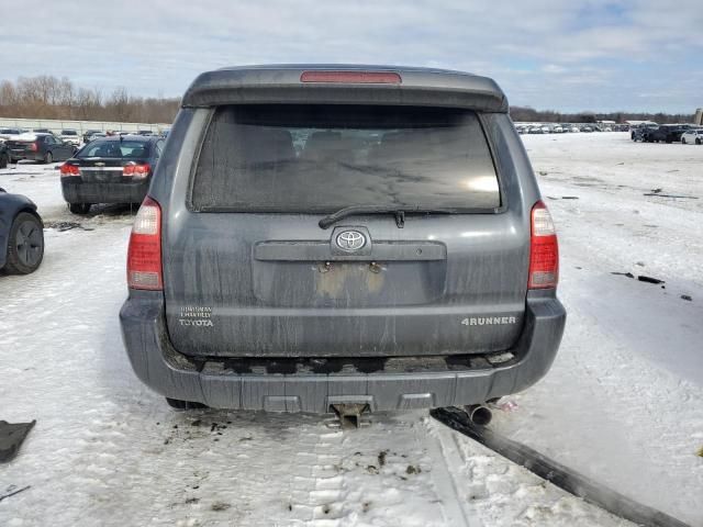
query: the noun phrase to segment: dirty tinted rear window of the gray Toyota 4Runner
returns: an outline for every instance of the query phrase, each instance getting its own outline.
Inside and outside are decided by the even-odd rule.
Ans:
[[[215,110],[192,183],[194,210],[330,213],[350,205],[457,212],[501,204],[472,112],[411,106]]]

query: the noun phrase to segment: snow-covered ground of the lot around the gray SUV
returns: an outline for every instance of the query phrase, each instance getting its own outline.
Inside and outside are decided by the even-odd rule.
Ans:
[[[559,227],[569,321],[549,374],[494,427],[703,525],[703,147],[524,142]],[[169,411],[119,335],[131,211],[70,215],[52,167],[0,170],[0,187],[47,225],[83,227],[47,228],[40,270],[0,277],[0,419],[37,419],[0,466],[0,496],[31,485],[0,501],[0,526],[631,525],[426,412],[342,433],[324,416]],[[628,271],[665,289],[611,274]]]

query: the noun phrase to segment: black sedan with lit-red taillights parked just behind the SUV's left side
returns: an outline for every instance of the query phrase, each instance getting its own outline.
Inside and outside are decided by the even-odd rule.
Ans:
[[[64,200],[74,214],[94,203],[141,203],[161,155],[160,137],[113,136],[90,142],[60,168]]]

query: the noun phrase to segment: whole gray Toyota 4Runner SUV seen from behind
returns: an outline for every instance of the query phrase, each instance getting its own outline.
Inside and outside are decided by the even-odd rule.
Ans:
[[[469,405],[547,372],[557,276],[493,80],[226,68],[183,96],[120,318],[136,374],[181,408]]]

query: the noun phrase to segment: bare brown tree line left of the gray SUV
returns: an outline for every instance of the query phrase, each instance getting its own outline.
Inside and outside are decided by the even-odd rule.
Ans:
[[[0,82],[0,117],[170,123],[179,104],[179,98],[144,98],[124,87],[103,94],[98,88],[77,87],[66,77],[42,75]]]

